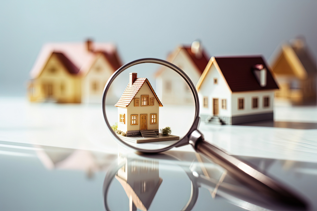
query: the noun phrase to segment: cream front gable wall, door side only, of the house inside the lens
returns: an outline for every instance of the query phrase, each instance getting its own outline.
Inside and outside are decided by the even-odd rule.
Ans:
[[[141,106],[141,95],[149,95],[149,104],[150,104],[150,98],[154,98],[154,95],[152,94],[150,88],[147,86],[146,83],[143,84],[143,86],[140,88],[139,92],[135,95],[134,98],[140,99],[140,106],[134,106],[134,99],[131,101],[131,103],[127,106],[127,129],[128,131],[138,131],[140,130],[140,114],[147,114],[147,129],[148,130],[158,130],[159,129],[159,103],[154,98],[154,105],[153,106]],[[138,115],[138,125],[131,125],[131,115],[137,114]],[[150,114],[157,114],[156,116],[156,124],[150,124],[151,118]]]

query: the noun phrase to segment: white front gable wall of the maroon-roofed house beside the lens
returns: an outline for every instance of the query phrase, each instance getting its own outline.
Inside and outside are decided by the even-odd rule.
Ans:
[[[217,84],[214,84],[214,79],[217,79]],[[222,74],[212,64],[210,70],[204,78],[198,90],[199,106],[201,116],[213,116],[213,99],[218,99],[219,115],[222,117],[231,116],[231,91]],[[208,97],[208,107],[204,107],[204,97]],[[227,100],[227,109],[222,109],[222,99]]]

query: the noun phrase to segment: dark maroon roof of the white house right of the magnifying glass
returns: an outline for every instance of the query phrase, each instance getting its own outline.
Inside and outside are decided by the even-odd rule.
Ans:
[[[212,57],[212,63],[216,63],[216,68],[223,74],[232,92],[255,91],[266,89],[278,89],[278,86],[264,60],[261,56],[242,56],[242,57]],[[253,69],[255,65],[261,64],[267,69],[266,86],[261,86],[256,79]],[[206,67],[204,73],[197,83],[199,90],[211,64]]]

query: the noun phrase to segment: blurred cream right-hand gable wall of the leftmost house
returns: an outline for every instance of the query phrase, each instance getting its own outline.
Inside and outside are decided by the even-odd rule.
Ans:
[[[99,54],[82,81],[83,102],[101,103],[103,89],[113,72],[114,70],[110,63],[105,59],[104,56]],[[97,82],[98,84],[96,91],[93,89],[94,82]],[[112,91],[109,90],[107,95],[108,98],[111,97],[111,92]]]

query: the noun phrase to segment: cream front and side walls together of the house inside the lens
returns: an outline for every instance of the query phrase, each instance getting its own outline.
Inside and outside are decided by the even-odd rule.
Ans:
[[[118,107],[118,130],[121,131],[139,131],[140,130],[140,114],[147,114],[147,130],[159,130],[159,103],[154,98],[154,106],[141,106],[141,95],[149,95],[150,98],[154,98],[150,88],[146,83],[139,89],[139,92],[134,98],[139,98],[139,105],[134,106],[134,99],[127,107]],[[120,113],[126,114],[126,125],[120,123]],[[131,125],[131,115],[138,115],[138,125]],[[150,124],[150,114],[157,114],[156,124]]]

